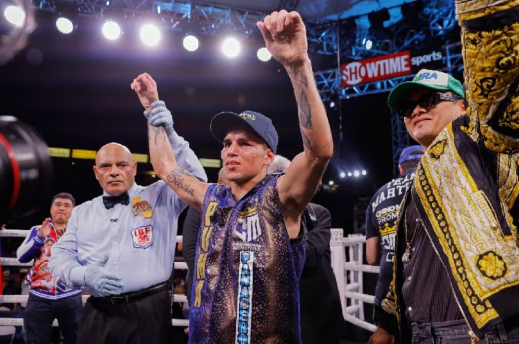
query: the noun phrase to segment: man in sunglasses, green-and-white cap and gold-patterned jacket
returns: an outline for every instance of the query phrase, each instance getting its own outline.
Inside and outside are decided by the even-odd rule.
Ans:
[[[426,152],[371,344],[519,342],[519,7],[496,4],[456,2],[467,109],[461,83],[440,71],[389,95]]]

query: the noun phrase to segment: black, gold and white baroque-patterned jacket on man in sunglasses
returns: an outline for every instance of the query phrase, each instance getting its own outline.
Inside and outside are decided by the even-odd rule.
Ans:
[[[467,116],[450,123],[418,166],[413,197],[475,336],[519,314],[519,0],[456,2],[462,32]],[[401,217],[401,216],[400,216]],[[397,240],[402,240],[399,221]],[[396,245],[398,248],[398,245]],[[408,342],[402,252],[379,326]]]

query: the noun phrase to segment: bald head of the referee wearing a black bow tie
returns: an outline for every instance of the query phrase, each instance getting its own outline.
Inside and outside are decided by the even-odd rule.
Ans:
[[[108,144],[95,156],[93,169],[101,188],[111,196],[119,196],[135,182],[137,163],[133,161],[131,153],[121,146]]]

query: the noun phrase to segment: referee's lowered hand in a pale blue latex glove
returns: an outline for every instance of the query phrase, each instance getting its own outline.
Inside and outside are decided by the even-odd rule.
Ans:
[[[83,277],[85,284],[103,296],[119,295],[125,288],[125,283],[121,277],[112,271],[107,271],[104,265],[108,261],[108,256],[94,265],[90,265],[85,270]]]

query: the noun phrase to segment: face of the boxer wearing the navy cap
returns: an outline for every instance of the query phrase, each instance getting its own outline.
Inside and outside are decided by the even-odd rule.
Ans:
[[[222,161],[229,181],[240,183],[266,174],[274,153],[258,135],[244,128],[231,129],[223,140]]]

